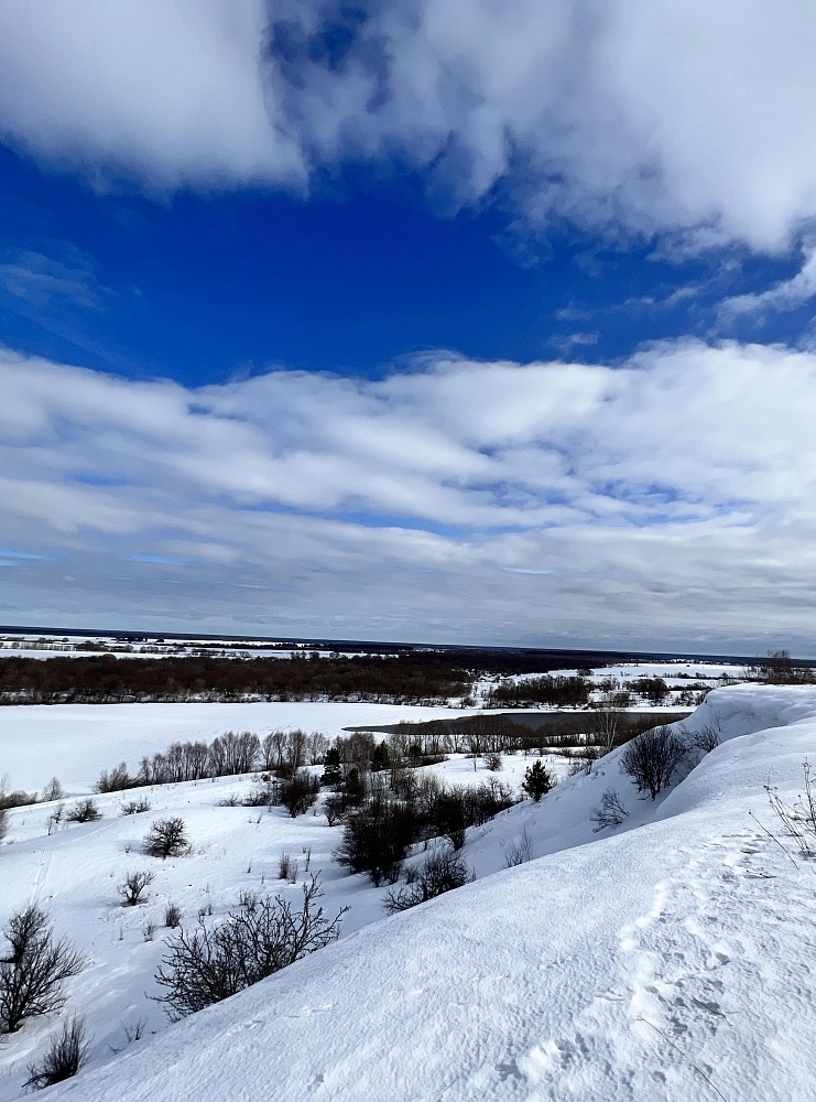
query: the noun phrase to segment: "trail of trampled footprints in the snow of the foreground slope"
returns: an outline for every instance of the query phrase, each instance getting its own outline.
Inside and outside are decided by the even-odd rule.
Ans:
[[[759,948],[733,930],[723,932],[722,918],[732,909],[729,897],[740,880],[773,878],[764,867],[765,845],[762,835],[747,832],[711,839],[703,846],[707,852],[689,856],[681,875],[655,885],[649,912],[618,934],[621,988],[592,1000],[574,1019],[569,1036],[552,1037],[519,1059],[527,1084],[544,1089],[534,1096],[583,1096],[601,1078],[614,1083],[616,1099],[642,1099],[644,1067],[652,1068],[648,1074],[657,1090],[670,1077],[673,1090],[689,1089],[694,1071],[682,1058],[666,1056],[655,1029],[712,1073],[705,1062],[706,1044],[728,1025],[729,1015],[744,1012],[728,1004],[728,965],[739,958],[742,971],[750,970]],[[711,861],[717,850],[723,851],[722,860]]]

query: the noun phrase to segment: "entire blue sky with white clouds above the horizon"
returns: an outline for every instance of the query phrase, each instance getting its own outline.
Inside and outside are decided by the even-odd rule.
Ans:
[[[7,0],[0,620],[816,655],[815,48]]]

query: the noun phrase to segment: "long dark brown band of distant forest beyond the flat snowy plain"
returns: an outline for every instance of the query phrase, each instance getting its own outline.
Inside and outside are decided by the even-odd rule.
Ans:
[[[569,655],[474,650],[409,651],[388,658],[9,657],[0,660],[0,703],[252,699],[434,704],[466,698],[479,674],[545,673],[565,663],[570,663]]]

